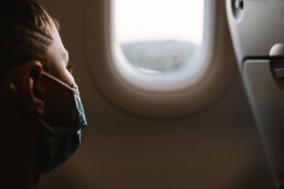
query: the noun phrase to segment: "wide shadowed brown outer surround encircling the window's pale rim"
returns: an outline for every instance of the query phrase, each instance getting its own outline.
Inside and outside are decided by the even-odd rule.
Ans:
[[[135,82],[133,84],[131,79],[121,76],[121,72],[114,64],[116,59],[111,52],[113,30],[111,2],[111,0],[102,1],[104,9],[95,13],[92,11],[92,6],[94,6],[92,0],[84,0],[85,61],[94,87],[105,101],[128,115],[158,120],[160,118],[185,118],[185,116],[195,115],[215,104],[226,91],[226,86],[231,84],[234,75],[232,73],[234,64],[227,64],[224,61],[224,58],[228,56],[234,57],[234,50],[231,45],[225,44],[225,42],[231,44],[231,40],[227,24],[224,24],[226,14],[221,2],[204,1],[204,23],[207,23],[204,25],[204,41],[210,41],[207,48],[206,69],[202,69],[202,74],[196,82],[183,82],[171,88],[168,86],[160,88],[157,86],[148,88],[148,85],[138,86]],[[94,17],[87,16],[91,14]],[[221,28],[218,27],[220,22],[222,22]],[[229,51],[228,47],[230,47]],[[222,53],[225,50],[228,55]]]

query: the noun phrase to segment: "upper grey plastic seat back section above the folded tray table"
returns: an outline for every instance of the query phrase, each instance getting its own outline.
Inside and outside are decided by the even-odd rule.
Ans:
[[[268,57],[271,47],[284,43],[284,1],[244,0],[241,16],[234,1],[226,0],[226,12],[239,66],[247,57]]]

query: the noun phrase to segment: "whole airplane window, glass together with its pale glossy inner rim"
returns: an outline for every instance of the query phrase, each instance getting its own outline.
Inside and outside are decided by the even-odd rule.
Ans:
[[[121,79],[151,93],[200,84],[215,55],[216,1],[109,2],[109,61]]]

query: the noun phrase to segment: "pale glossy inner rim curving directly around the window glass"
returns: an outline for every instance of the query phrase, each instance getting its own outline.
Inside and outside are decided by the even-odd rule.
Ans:
[[[213,1],[204,0],[204,32],[203,42],[200,50],[195,53],[195,57],[190,61],[187,67],[182,67],[178,71],[168,74],[146,74],[133,67],[124,57],[120,45],[115,38],[115,4],[118,0],[110,1],[109,20],[109,48],[114,67],[121,75],[124,81],[134,88],[150,93],[177,93],[184,91],[185,88],[192,88],[197,85],[207,73],[211,59],[213,57],[212,49],[214,47],[214,11]],[[207,55],[207,56],[201,56]],[[193,65],[194,64],[194,65]]]

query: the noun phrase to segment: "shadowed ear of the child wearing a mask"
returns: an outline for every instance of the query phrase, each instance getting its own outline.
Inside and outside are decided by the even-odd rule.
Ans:
[[[40,99],[35,88],[35,82],[43,73],[43,65],[38,61],[26,62],[16,67],[9,74],[9,88],[12,95],[29,113],[38,117],[44,114],[43,99]]]

